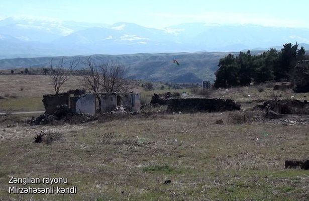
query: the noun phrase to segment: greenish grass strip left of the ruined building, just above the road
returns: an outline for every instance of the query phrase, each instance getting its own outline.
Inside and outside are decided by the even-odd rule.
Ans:
[[[44,110],[42,97],[18,97],[0,100],[0,112],[5,111],[41,111]]]

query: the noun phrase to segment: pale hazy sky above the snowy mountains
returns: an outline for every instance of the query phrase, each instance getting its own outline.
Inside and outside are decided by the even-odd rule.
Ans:
[[[153,28],[191,22],[309,28],[308,0],[0,0],[0,5],[0,19],[132,22]]]

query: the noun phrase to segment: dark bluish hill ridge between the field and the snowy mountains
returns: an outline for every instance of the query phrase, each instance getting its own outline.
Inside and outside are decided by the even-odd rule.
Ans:
[[[128,78],[143,79],[149,81],[178,83],[197,83],[202,80],[215,78],[214,72],[218,68],[219,59],[225,57],[225,52],[200,52],[200,53],[160,53],[160,54],[128,54],[128,55],[92,55],[91,58],[96,63],[106,61],[119,61],[126,65]],[[235,53],[236,54],[236,53]],[[48,67],[53,58],[56,63],[62,57],[37,57],[37,58],[15,58],[0,60],[0,69],[11,68],[31,68]],[[86,56],[64,57],[67,61],[80,58],[84,60]],[[179,66],[173,64],[173,58],[180,63]],[[79,64],[78,68],[83,68]]]

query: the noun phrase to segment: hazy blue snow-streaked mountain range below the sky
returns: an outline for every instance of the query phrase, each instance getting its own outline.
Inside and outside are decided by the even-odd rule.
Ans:
[[[245,49],[265,50],[296,41],[309,43],[309,29],[205,23],[154,29],[127,22],[106,25],[13,17],[0,20],[0,59],[92,54],[237,52]]]

